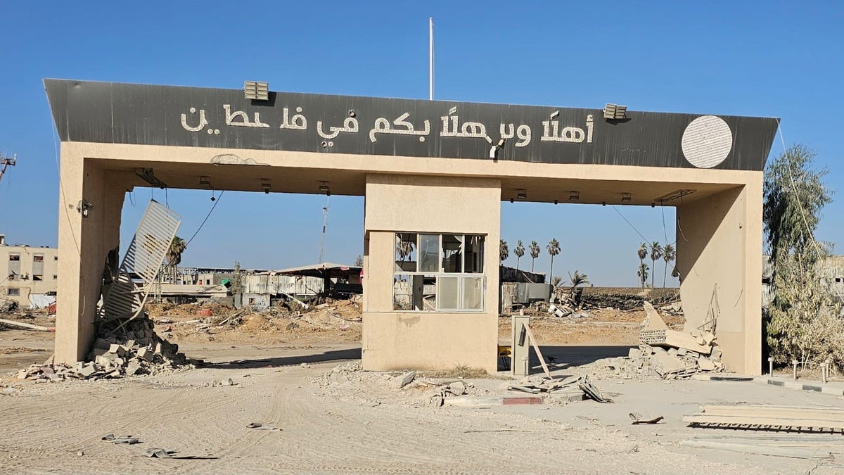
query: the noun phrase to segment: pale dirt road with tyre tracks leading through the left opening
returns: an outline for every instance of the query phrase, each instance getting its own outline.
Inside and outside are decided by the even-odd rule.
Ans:
[[[384,387],[360,382],[371,379],[349,377],[336,390],[317,384],[338,363],[359,358],[356,345],[232,347],[210,342],[183,347],[212,364],[165,376],[27,381],[19,393],[0,396],[0,472],[750,474],[806,472],[817,465],[680,447],[668,429],[690,429],[683,429],[676,417],[670,428],[634,428],[614,419],[628,410],[622,406],[613,407],[612,418],[602,421],[607,406],[590,401],[435,408],[390,397]],[[213,385],[229,378],[234,385]],[[481,395],[506,385],[500,379],[473,382]],[[657,390],[663,386],[649,384]],[[653,393],[645,386],[636,391],[640,396]],[[796,393],[779,391],[789,397]],[[709,395],[687,392],[700,403],[719,396],[715,388]],[[824,401],[835,400],[826,396]],[[282,430],[246,429],[252,422]],[[142,443],[100,440],[109,433],[131,434]],[[214,458],[142,455],[153,447]],[[832,468],[840,467],[821,464],[814,473],[832,473]]]

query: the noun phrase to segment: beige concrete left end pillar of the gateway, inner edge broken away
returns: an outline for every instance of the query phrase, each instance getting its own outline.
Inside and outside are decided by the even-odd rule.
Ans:
[[[62,143],[59,173],[56,362],[83,360],[95,336],[103,267],[120,245],[125,185]],[[92,207],[84,217],[80,203]]]

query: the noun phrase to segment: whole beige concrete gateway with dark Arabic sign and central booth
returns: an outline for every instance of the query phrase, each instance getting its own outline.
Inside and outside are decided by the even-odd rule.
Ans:
[[[717,295],[724,362],[760,372],[775,118],[45,85],[62,140],[57,361],[89,350],[127,190],[210,184],[365,196],[363,364],[374,370],[495,371],[502,200],[676,206],[687,325]]]

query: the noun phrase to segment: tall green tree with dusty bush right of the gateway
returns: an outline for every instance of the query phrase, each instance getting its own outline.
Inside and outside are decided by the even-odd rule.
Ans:
[[[816,262],[828,254],[814,240],[820,210],[830,202],[825,169],[813,168],[814,152],[794,145],[765,171],[766,240],[773,264],[773,299],[765,312],[766,341],[776,363],[844,364],[844,322]]]

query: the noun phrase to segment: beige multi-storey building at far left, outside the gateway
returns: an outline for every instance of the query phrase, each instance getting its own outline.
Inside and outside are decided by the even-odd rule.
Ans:
[[[58,248],[8,245],[0,234],[0,299],[21,308],[54,302],[58,284]]]

